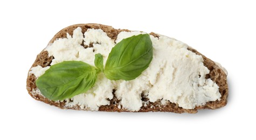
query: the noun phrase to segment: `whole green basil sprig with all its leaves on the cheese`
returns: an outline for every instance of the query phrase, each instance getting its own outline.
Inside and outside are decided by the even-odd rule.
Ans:
[[[99,53],[95,54],[95,67],[82,61],[63,61],[39,76],[36,85],[48,99],[64,100],[91,89],[100,72],[110,80],[133,80],[152,59],[153,46],[149,34],[139,34],[123,39],[112,48],[105,69],[103,56]]]

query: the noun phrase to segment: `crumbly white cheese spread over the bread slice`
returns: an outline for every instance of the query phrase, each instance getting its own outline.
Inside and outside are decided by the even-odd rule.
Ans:
[[[143,32],[120,32],[116,43],[141,33]],[[188,45],[176,39],[161,35],[159,38],[150,35],[150,38],[153,43],[153,60],[139,77],[130,81],[113,81],[100,73],[92,89],[67,99],[65,106],[78,105],[82,109],[98,110],[113,99],[113,89],[116,90],[114,94],[117,99],[121,100],[121,106],[118,107],[129,111],[139,111],[142,106],[147,106],[147,102],[141,100],[141,94],[147,96],[150,102],[161,100],[165,104],[170,101],[184,109],[220,100],[217,84],[211,79],[205,79],[210,71],[203,65],[202,56],[187,50]],[[93,44],[93,47],[85,49],[81,46],[83,40],[85,45]],[[45,51],[54,57],[51,65],[65,60],[78,60],[94,66],[96,53],[103,55],[105,65],[108,54],[116,43],[101,29],[88,29],[82,34],[78,27],[73,31],[73,36],[67,34],[67,38],[54,41]],[[38,78],[48,68],[33,67],[30,73]]]

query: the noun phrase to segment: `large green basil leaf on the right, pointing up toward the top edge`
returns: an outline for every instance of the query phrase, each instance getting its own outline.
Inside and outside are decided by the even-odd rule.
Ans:
[[[109,53],[104,73],[110,80],[133,80],[153,59],[153,46],[149,34],[123,39]]]

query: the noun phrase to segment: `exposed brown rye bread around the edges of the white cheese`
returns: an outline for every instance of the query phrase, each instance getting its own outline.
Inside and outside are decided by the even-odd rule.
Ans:
[[[121,30],[121,29],[114,29],[112,26],[106,26],[101,24],[77,24],[68,26],[65,29],[59,31],[50,41],[49,44],[53,43],[54,40],[58,38],[66,38],[66,34],[69,33],[70,35],[73,35],[73,30],[77,29],[77,27],[81,27],[82,33],[85,33],[87,29],[102,29],[107,33],[107,36],[109,38],[112,38],[113,40],[116,40],[117,34],[119,34],[121,31],[129,31],[129,30]],[[159,37],[154,32],[150,33],[154,37]],[[81,44],[85,48],[92,47],[92,45],[85,46],[84,43]],[[197,50],[189,47],[188,50],[198,54],[202,55]],[[204,66],[206,66],[210,73],[206,75],[206,78],[211,78],[214,82],[217,83],[219,86],[219,92],[222,95],[220,98],[220,101],[210,101],[205,104],[205,106],[199,106],[195,109],[183,109],[181,107],[178,107],[178,104],[168,102],[165,105],[161,104],[161,100],[158,100],[156,102],[149,102],[146,107],[142,106],[139,112],[148,112],[148,111],[165,111],[165,112],[174,112],[174,113],[197,113],[198,109],[217,109],[220,107],[224,107],[227,103],[227,96],[229,93],[229,89],[227,86],[227,75],[224,73],[224,71],[215,64],[212,60],[206,58],[204,55],[202,55],[204,59]],[[52,56],[49,57],[47,51],[42,51],[40,54],[37,55],[36,60],[34,61],[32,67],[36,67],[40,65],[41,67],[50,66],[52,59],[54,59]],[[45,103],[48,103],[50,105],[59,107],[61,109],[75,109],[75,110],[89,110],[88,108],[81,109],[80,106],[73,106],[73,107],[65,107],[65,100],[64,101],[52,101],[49,99],[46,99],[41,94],[38,94],[36,92],[33,92],[33,90],[37,89],[36,86],[36,77],[33,74],[28,74],[27,81],[26,81],[26,89],[29,92],[29,94],[36,100],[43,101]],[[99,111],[129,111],[126,109],[119,109],[118,106],[120,104],[120,100],[118,100],[115,96],[115,90],[113,89],[113,99],[110,100],[110,104],[106,106],[101,106],[99,108]],[[141,95],[142,101],[148,101],[147,96]],[[71,101],[72,102],[72,101]]]

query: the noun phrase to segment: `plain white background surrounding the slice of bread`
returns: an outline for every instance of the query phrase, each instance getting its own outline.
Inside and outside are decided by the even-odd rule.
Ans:
[[[255,139],[253,1],[1,1],[0,139]],[[229,72],[227,106],[197,114],[61,110],[27,94],[36,55],[66,26],[164,34]]]

